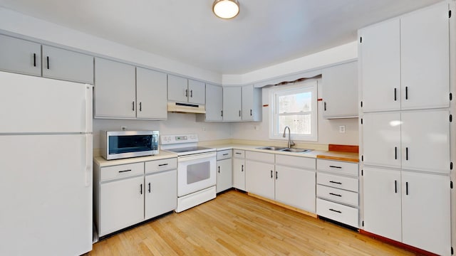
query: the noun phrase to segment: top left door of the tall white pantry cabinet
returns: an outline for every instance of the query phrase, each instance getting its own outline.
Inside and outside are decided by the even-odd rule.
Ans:
[[[358,36],[362,38],[359,61],[363,111],[400,110],[399,19],[363,28]]]

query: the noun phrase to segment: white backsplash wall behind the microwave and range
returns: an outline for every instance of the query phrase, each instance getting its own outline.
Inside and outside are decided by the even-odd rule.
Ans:
[[[93,148],[100,148],[100,130],[118,131],[120,127],[158,130],[160,134],[196,133],[200,142],[231,138],[230,124],[196,122],[195,114],[168,113],[166,121],[93,119]]]

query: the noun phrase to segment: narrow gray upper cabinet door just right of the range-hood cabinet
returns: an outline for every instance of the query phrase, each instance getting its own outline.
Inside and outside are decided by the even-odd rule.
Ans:
[[[222,121],[223,88],[206,84],[206,121]]]

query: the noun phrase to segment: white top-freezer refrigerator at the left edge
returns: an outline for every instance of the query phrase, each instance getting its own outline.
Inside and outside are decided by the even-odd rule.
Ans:
[[[92,93],[0,72],[0,255],[92,250]]]

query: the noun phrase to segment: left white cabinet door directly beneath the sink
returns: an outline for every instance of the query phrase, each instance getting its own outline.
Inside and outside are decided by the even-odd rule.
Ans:
[[[246,159],[246,166],[246,191],[274,200],[274,164]]]

